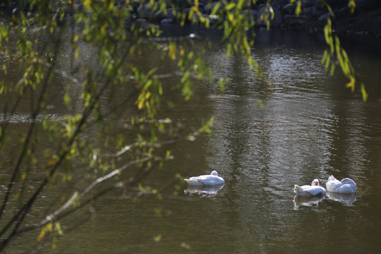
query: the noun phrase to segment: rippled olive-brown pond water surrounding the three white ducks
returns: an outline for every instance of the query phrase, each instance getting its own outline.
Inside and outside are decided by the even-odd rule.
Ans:
[[[330,76],[321,65],[321,35],[259,31],[253,58],[262,79],[239,56],[224,58],[224,50],[215,45],[207,61],[217,77],[230,79],[225,91],[215,80],[196,83],[191,101],[179,99],[178,107],[164,112],[190,129],[214,116],[213,133],[171,145],[174,159],[145,179],[155,188],[180,188],[164,188],[162,200],[109,193],[94,205],[91,219],[82,222],[78,212],[62,222],[64,235],[56,249],[48,243],[39,252],[379,253],[377,43],[343,42],[370,94],[366,103],[360,92],[345,88],[338,68]],[[212,170],[225,179],[221,188],[192,190],[174,177]],[[353,179],[356,193],[295,197],[294,184],[316,178],[325,186],[330,175]],[[16,239],[9,252],[31,250],[37,236],[35,231]]]

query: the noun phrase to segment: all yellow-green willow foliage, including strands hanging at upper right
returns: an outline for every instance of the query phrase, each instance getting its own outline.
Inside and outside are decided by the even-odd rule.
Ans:
[[[172,158],[171,151],[164,147],[211,132],[213,118],[184,134],[181,126],[161,116],[159,111],[163,105],[172,104],[165,97],[169,90],[179,90],[183,99],[188,100],[193,95],[195,80],[212,78],[212,71],[202,58],[205,49],[193,47],[198,37],[163,40],[159,38],[162,31],[155,23],[137,20],[138,8],[146,10],[145,16],[150,19],[157,13],[167,13],[172,7],[172,14],[181,25],[198,23],[222,30],[228,56],[241,54],[250,68],[258,71],[258,64],[251,57],[256,20],[248,12],[248,6],[256,1],[219,1],[209,16],[200,13],[198,0],[193,1],[188,13],[176,8],[179,6],[175,2],[126,0],[116,4],[114,0],[31,0],[24,1],[29,5],[23,6],[24,9],[15,8],[1,23],[2,71],[4,76],[12,78],[0,81],[1,106],[4,107],[0,147],[4,151],[13,150],[12,144],[16,143],[17,156],[10,163],[13,171],[7,191],[1,196],[0,250],[16,236],[33,229],[40,229],[36,246],[40,246],[47,234],[62,235],[61,218],[115,188],[123,187],[128,192],[138,186],[135,197],[149,194],[162,198],[159,191],[143,186],[141,180]],[[301,1],[297,3],[300,11]],[[353,6],[354,1],[349,4]],[[274,11],[269,3],[266,10],[261,20],[269,29]],[[353,90],[353,68],[339,39],[332,35],[329,20],[325,37],[329,50],[322,62],[326,68],[330,65],[333,72],[331,59],[336,56]],[[208,45],[207,42],[202,44]],[[174,71],[161,73],[157,63],[156,66],[147,63],[145,67],[135,65],[131,59],[143,56],[147,47],[156,49],[160,56],[158,61],[171,61]],[[67,52],[68,63],[62,67],[62,56]],[[14,77],[17,82],[9,81],[16,80]],[[174,77],[178,77],[178,85],[168,87],[164,80]],[[68,114],[62,119],[49,117],[47,99],[56,89],[56,79],[64,80],[59,83],[64,92],[57,98],[67,107]],[[223,90],[223,79],[219,79],[219,85]],[[361,90],[365,100],[363,85]],[[111,104],[116,95],[123,95],[124,99],[113,107],[104,107],[102,103]],[[28,124],[20,131],[13,130],[8,117],[23,111],[25,104],[30,109]],[[258,104],[262,107],[260,102]],[[117,124],[123,128],[116,128]],[[89,137],[89,133],[95,132],[99,134]],[[44,158],[37,156],[41,151]],[[66,198],[58,207],[44,214],[40,221],[28,223],[34,226],[27,226],[27,214],[41,193],[58,181],[73,181],[76,177],[73,169],[78,165],[92,176],[87,188],[68,188]],[[104,184],[127,169],[124,178]],[[42,172],[42,176],[39,175],[42,180],[29,194],[24,190],[32,182],[32,170]],[[103,184],[102,189],[96,188]],[[12,206],[15,207],[13,214],[7,213]],[[161,238],[159,234],[154,241]]]

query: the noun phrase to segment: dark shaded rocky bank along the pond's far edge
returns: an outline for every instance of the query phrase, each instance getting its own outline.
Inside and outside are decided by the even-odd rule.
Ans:
[[[115,0],[116,5],[125,6],[125,0]],[[298,0],[295,0],[298,1]],[[324,28],[327,18],[332,20],[332,28],[335,32],[348,35],[365,35],[369,37],[381,37],[381,0],[355,0],[356,8],[352,13],[349,8],[350,0],[301,0],[301,13],[296,15],[296,3],[290,4],[290,0],[246,0],[246,15],[252,16],[255,24],[265,26],[260,17],[269,13],[270,8],[274,12],[271,20],[272,27],[284,29],[320,31]],[[15,10],[29,10],[29,0],[7,1],[0,0],[1,13],[13,13]],[[220,16],[210,16],[212,9],[219,1],[199,0],[198,9],[202,16],[210,19],[210,23],[217,22]],[[229,3],[229,1],[224,1]],[[329,4],[332,12],[329,12],[325,3]],[[270,3],[270,4],[269,4]],[[21,6],[20,6],[21,4]],[[178,23],[181,16],[187,16],[191,6],[195,3],[188,0],[167,0],[167,11],[156,12],[147,4],[141,5],[140,1],[130,1],[133,14],[128,22],[153,22],[153,23]],[[82,8],[80,1],[75,4],[76,8]],[[174,7],[175,6],[175,7]],[[223,8],[220,5],[219,8]],[[74,9],[75,11],[75,9]],[[70,14],[70,13],[69,13]],[[223,14],[222,14],[223,15]],[[197,23],[197,18],[193,20]]]

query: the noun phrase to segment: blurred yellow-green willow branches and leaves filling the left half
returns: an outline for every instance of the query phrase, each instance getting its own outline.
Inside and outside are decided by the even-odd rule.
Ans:
[[[157,68],[141,69],[129,59],[143,54],[145,47],[156,47],[162,59],[171,59],[178,66],[182,77],[178,88],[185,99],[192,95],[191,77],[203,78],[211,73],[208,68],[200,68],[205,65],[200,55],[202,52],[187,49],[189,38],[155,43],[161,33],[156,25],[130,21],[134,6],[143,4],[156,12],[166,8],[165,1],[126,1],[116,6],[115,1],[85,0],[78,4],[76,1],[33,0],[30,1],[30,11],[17,10],[8,23],[1,24],[0,42],[7,58],[3,65],[4,74],[19,75],[20,78],[16,83],[1,82],[5,119],[1,121],[0,145],[5,148],[19,142],[22,147],[2,200],[0,218],[6,218],[7,222],[2,224],[0,233],[4,239],[1,249],[14,236],[30,229],[42,228],[37,246],[49,232],[56,231],[61,235],[60,216],[83,207],[107,190],[104,188],[90,195],[95,186],[132,167],[138,170],[131,170],[129,178],[115,184],[126,189],[137,185],[145,174],[171,159],[170,151],[160,149],[163,144],[193,140],[189,137],[210,131],[212,123],[208,121],[199,131],[181,137],[170,119],[157,119],[163,95],[172,87],[164,86],[162,80],[166,75],[159,74]],[[150,37],[152,43],[147,44]],[[68,45],[71,47],[70,69],[63,71],[59,67],[59,56],[61,52],[70,51]],[[87,54],[87,47],[91,47],[96,56],[95,61],[84,63],[80,60]],[[80,110],[66,114],[59,121],[49,119],[47,114],[47,95],[54,90],[54,79],[58,77],[66,80],[63,104],[70,109],[71,104],[80,99],[81,105]],[[78,87],[79,96],[74,92]],[[102,99],[112,100],[116,93],[125,94],[126,100],[114,111],[102,107]],[[26,131],[16,134],[10,128],[7,116],[19,111],[20,103],[24,101],[30,103],[30,124]],[[125,122],[124,131],[116,140],[112,138],[115,128],[111,119],[124,119]],[[91,129],[99,130],[99,136],[84,138]],[[20,140],[13,140],[17,135]],[[44,149],[46,159],[36,156],[40,152],[38,147],[42,136],[48,137],[50,143]],[[35,222],[36,226],[23,227],[26,214],[42,191],[59,180],[72,181],[73,164],[78,162],[92,172],[95,181],[90,181],[82,191],[73,190],[71,198],[58,210],[47,214],[45,219]],[[30,171],[36,168],[44,171],[45,176],[32,195],[16,191],[16,187],[28,186]],[[152,193],[159,195],[157,191]],[[16,200],[20,202],[15,204]],[[18,207],[11,217],[5,214],[10,205]]]

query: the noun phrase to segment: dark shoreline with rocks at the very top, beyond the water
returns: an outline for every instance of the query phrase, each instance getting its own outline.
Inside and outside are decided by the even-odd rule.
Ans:
[[[363,37],[373,37],[381,38],[381,1],[375,3],[377,0],[362,0],[367,4],[362,4],[355,8],[354,13],[349,11],[348,6],[339,8],[332,8],[334,16],[332,16],[324,8],[317,6],[317,2],[320,0],[303,0],[306,6],[302,5],[302,11],[300,15],[295,15],[295,4],[288,4],[289,0],[273,0],[272,8],[274,10],[274,20],[271,21],[272,28],[282,28],[284,30],[304,30],[308,32],[321,32],[325,25],[327,24],[327,18],[332,20],[332,29],[335,33],[339,35],[350,35],[350,36],[363,36]],[[329,2],[329,0],[325,0]],[[332,1],[332,0],[331,0]],[[341,0],[337,0],[340,2]],[[345,0],[341,1],[342,2]],[[348,1],[348,0],[346,0]],[[360,0],[358,0],[360,1]],[[208,1],[201,1],[207,3]],[[258,1],[260,2],[260,1]],[[307,4],[307,2],[309,4]],[[334,1],[333,1],[334,2]],[[311,3],[314,3],[311,5]],[[215,4],[215,2],[212,2]],[[121,4],[123,6],[123,4]],[[80,6],[78,6],[80,8]],[[208,16],[210,7],[207,8],[207,4],[202,4],[203,14]],[[253,15],[255,17],[256,24],[258,28],[265,28],[265,25],[261,24],[258,20],[258,16],[263,11],[266,11],[265,4],[258,4],[246,9],[248,15]],[[15,11],[19,11],[18,4],[13,4],[11,6],[0,6],[1,16],[11,16]],[[147,8],[143,6],[136,7],[135,13],[128,22],[152,22],[152,23],[176,23],[176,18],[170,13],[167,16],[155,13],[155,15],[147,16]],[[186,12],[187,8],[183,8],[181,11]],[[205,10],[205,11],[204,11]],[[68,14],[70,15],[70,14]],[[1,20],[0,20],[1,21]]]

